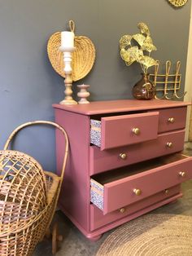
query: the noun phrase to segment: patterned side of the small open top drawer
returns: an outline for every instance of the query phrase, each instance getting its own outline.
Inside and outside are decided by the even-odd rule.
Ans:
[[[90,120],[90,143],[101,147],[101,121]]]

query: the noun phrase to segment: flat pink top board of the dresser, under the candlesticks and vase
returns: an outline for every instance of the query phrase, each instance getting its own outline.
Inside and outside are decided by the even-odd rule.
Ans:
[[[67,110],[68,112],[81,113],[83,115],[97,115],[103,113],[121,113],[157,108],[177,108],[190,104],[190,102],[172,101],[166,99],[118,99],[108,101],[92,101],[90,104],[53,104],[53,107]]]

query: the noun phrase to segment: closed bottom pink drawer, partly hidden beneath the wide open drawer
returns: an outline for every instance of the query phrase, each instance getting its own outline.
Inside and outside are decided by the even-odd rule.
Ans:
[[[146,197],[142,201],[135,202],[131,205],[125,205],[124,207],[114,210],[109,214],[103,215],[103,212],[95,205],[90,205],[90,230],[93,231],[98,227],[103,227],[108,223],[112,223],[120,218],[124,218],[131,214],[137,213],[139,210],[146,209],[151,205],[155,205],[159,201],[168,201],[168,198],[181,193],[180,185],[172,188],[167,188],[155,195]],[[171,201],[171,200],[170,200]]]

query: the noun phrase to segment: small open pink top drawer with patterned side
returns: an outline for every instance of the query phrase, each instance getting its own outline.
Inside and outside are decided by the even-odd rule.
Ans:
[[[155,139],[158,122],[159,112],[102,117],[101,121],[91,119],[90,143],[103,150]]]

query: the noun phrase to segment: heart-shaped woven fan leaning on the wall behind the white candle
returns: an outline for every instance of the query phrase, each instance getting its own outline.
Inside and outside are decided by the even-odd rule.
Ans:
[[[72,81],[85,77],[94,65],[95,48],[93,42],[84,36],[75,37],[76,50],[72,52]],[[59,51],[61,33],[54,33],[47,44],[50,64],[60,76],[65,77],[63,52]]]

